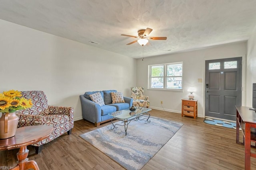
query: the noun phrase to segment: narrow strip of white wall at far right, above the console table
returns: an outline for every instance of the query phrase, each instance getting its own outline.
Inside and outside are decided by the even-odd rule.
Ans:
[[[256,83],[256,27],[247,43],[246,106],[252,107],[252,83]]]

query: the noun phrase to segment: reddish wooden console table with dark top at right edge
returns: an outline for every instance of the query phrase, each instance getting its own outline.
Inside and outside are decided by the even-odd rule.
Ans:
[[[251,127],[256,128],[256,111],[251,107],[236,106],[236,143],[244,145],[244,169],[250,170],[251,156],[256,158],[256,154],[251,152],[251,142],[256,143],[255,137],[251,137]],[[242,129],[243,142],[239,141],[239,127]]]

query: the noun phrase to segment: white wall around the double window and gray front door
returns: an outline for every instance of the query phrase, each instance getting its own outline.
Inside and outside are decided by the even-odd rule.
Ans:
[[[231,57],[243,57],[246,61],[246,42],[222,45],[208,49],[163,55],[157,57],[137,60],[137,86],[145,88],[144,94],[149,96],[150,107],[164,109],[181,113],[181,99],[188,98],[188,88],[196,88],[195,99],[198,100],[198,117],[204,117],[204,72],[205,61],[211,59],[222,59]],[[148,87],[148,65],[183,62],[183,92],[149,90]],[[243,84],[245,75],[245,65],[243,66]],[[198,82],[202,78],[203,82]],[[244,92],[242,92],[242,102],[244,103]],[[160,101],[163,101],[161,106]]]

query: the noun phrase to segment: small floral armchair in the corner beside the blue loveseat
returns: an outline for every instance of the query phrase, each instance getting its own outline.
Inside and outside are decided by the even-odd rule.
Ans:
[[[133,98],[133,106],[140,107],[149,107],[149,97],[144,96],[144,88],[143,87],[131,87]]]

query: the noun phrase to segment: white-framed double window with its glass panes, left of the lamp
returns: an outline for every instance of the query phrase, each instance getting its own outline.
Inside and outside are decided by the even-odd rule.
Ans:
[[[183,63],[168,63],[148,66],[148,88],[182,89]]]

